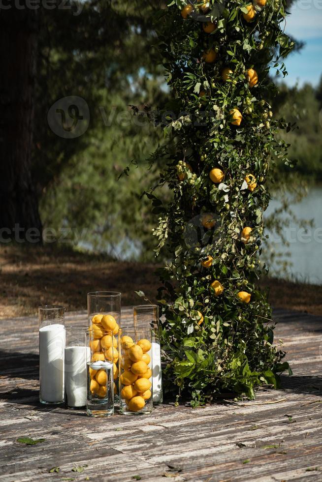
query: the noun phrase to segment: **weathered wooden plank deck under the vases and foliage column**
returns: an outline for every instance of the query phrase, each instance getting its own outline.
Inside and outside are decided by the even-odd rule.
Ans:
[[[38,322],[2,320],[0,481],[322,481],[322,318],[283,310],[275,318],[294,372],[283,390],[106,419],[40,406]],[[86,324],[85,313],[68,323]],[[28,446],[19,437],[45,440]]]

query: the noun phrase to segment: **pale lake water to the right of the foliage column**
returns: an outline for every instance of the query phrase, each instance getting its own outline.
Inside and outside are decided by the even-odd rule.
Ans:
[[[279,205],[278,201],[272,200],[266,213],[272,213]],[[322,284],[322,186],[311,187],[307,197],[292,205],[291,209],[300,219],[313,219],[314,227],[308,228],[305,233],[296,223],[291,222],[290,227],[285,228],[290,246],[284,246],[276,235],[268,233],[273,249],[284,255],[290,252],[290,258],[284,258],[292,263],[288,269],[289,276],[285,273],[278,273],[278,276]],[[274,264],[270,267],[271,274],[274,274],[275,268]]]

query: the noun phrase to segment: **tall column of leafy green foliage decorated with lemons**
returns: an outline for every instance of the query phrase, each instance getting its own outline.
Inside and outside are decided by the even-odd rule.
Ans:
[[[210,3],[212,16],[218,8]],[[197,406],[216,393],[254,398],[259,385],[276,388],[278,373],[288,368],[281,363],[284,353],[273,346],[271,309],[256,281],[265,272],[258,256],[262,215],[270,199],[270,161],[290,165],[288,146],[277,133],[292,126],[272,119],[266,99],[277,89],[268,65],[285,74],[280,58],[294,43],[283,32],[285,4],[278,0],[256,7],[251,23],[242,16],[246,4],[227,1],[211,34],[193,15],[183,20],[182,6],[173,1],[156,13],[159,49],[174,98],[161,112],[170,141],[154,159],[163,159],[159,186],[166,184],[173,199],[152,199],[160,216],[154,231],[157,254],[165,250],[172,258],[160,270],[166,386],[188,394]],[[217,59],[207,63],[203,52],[211,50]],[[226,81],[225,67],[233,71]],[[246,75],[250,68],[258,73],[252,87]],[[240,126],[232,124],[232,109],[242,113]],[[176,115],[167,116],[170,110]],[[210,180],[213,168],[223,171],[222,182]],[[252,232],[244,244],[246,226]],[[210,268],[202,266],[207,256]],[[223,286],[222,293],[211,288],[214,280]],[[248,304],[237,296],[240,291],[251,294]]]

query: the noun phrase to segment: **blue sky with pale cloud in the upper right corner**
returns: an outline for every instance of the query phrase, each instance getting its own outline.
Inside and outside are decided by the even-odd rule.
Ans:
[[[285,31],[305,46],[286,59],[289,75],[284,81],[289,86],[296,82],[316,86],[322,75],[322,0],[297,0],[290,13]]]

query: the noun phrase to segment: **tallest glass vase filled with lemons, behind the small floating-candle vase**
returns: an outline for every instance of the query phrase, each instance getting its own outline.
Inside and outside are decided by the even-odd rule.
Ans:
[[[89,330],[93,332],[91,348],[95,349],[94,357],[113,363],[114,400],[118,402],[118,333],[121,322],[121,293],[116,291],[88,293],[87,313]]]

